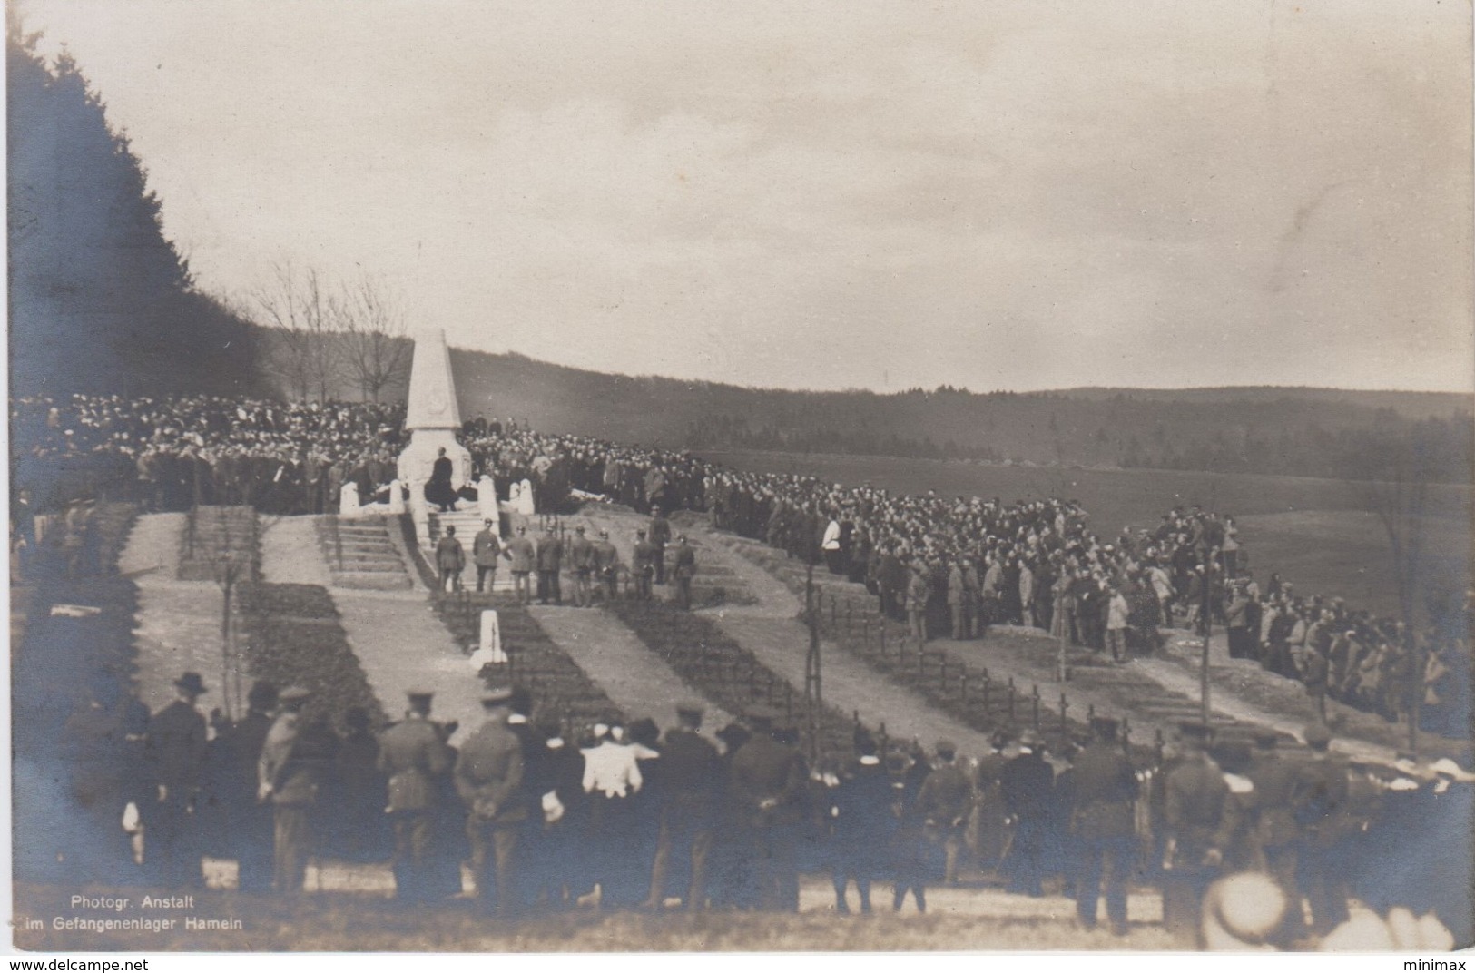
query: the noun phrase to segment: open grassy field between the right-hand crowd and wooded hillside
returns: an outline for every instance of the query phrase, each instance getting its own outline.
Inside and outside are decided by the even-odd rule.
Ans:
[[[1397,610],[1388,544],[1364,509],[1357,484],[1298,476],[1177,470],[978,466],[872,456],[704,451],[704,458],[758,472],[807,473],[839,484],[872,482],[894,492],[999,497],[1004,501],[1071,497],[1109,537],[1122,526],[1152,526],[1174,506],[1202,504],[1235,516],[1252,571],[1271,571],[1302,594],[1341,596],[1375,612]],[[1429,491],[1429,569],[1440,584],[1471,582],[1471,488]]]

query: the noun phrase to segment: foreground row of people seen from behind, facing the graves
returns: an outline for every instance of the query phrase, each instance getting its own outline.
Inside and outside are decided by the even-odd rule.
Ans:
[[[428,908],[465,896],[468,864],[473,902],[512,918],[677,901],[796,911],[799,876],[816,873],[836,913],[872,911],[876,883],[892,910],[926,911],[929,887],[999,880],[1074,896],[1081,927],[1118,935],[1128,886],[1150,883],[1170,932],[1204,945],[1215,882],[1254,873],[1280,898],[1274,921],[1215,921],[1255,945],[1316,944],[1353,899],[1471,936],[1475,774],[1351,764],[1322,724],[1308,750],[1286,750],[1274,731],[1190,722],[1136,764],[1108,718],[1078,744],[1025,730],[972,755],[879,744],[857,725],[850,758],[811,765],[768,708],[715,733],[699,703],[664,733],[648,718],[568,727],[496,687],[485,722],[457,734],[412,690],[403,719],[375,733],[360,714],[339,736],[298,687],[255,684],[237,721],[204,715],[199,674],[174,688],[158,712],[94,697],[68,724],[117,749],[71,764],[115,836],[100,861],[77,859],[91,877],[201,887],[211,855],[237,862],[240,890],[299,895],[314,862],[388,861],[397,899]]]

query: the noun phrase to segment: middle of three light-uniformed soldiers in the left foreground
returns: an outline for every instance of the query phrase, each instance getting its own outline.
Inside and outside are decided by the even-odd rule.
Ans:
[[[435,834],[431,809],[437,778],[450,770],[450,752],[431,722],[432,693],[410,690],[401,722],[379,736],[379,770],[388,775],[388,812],[394,824],[394,887],[401,902],[437,898],[429,880]]]

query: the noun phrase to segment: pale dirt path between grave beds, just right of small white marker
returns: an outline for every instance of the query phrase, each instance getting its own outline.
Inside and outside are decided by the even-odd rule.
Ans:
[[[618,618],[597,609],[530,606],[528,612],[553,643],[589,675],[631,719],[650,716],[662,730],[676,725],[683,699],[707,703],[704,733],[732,722],[702,693],[686,684],[661,656]],[[712,737],[715,740],[715,737]]]

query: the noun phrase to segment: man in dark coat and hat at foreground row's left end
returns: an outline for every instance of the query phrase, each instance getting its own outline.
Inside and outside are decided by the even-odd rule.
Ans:
[[[176,699],[149,718],[145,755],[155,783],[155,802],[145,811],[158,879],[165,886],[199,886],[199,821],[196,796],[205,770],[208,728],[195,700],[208,690],[199,672],[174,680]],[[152,811],[152,812],[150,812]]]

